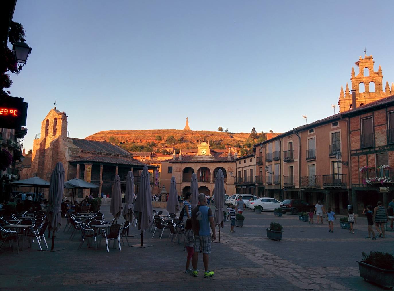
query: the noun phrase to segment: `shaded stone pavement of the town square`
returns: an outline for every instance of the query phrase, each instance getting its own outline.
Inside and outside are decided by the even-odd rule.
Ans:
[[[214,208],[214,206],[211,206]],[[102,207],[110,219],[109,205]],[[227,243],[213,243],[210,254],[212,278],[184,274],[186,253],[182,244],[171,246],[168,233],[159,239],[156,232],[145,233],[144,242],[152,247],[134,248],[122,245],[122,251],[110,248],[105,241],[98,250],[87,247],[77,250],[80,236],[71,241],[70,234],[58,233],[58,252],[39,252],[37,243],[31,249],[12,252],[8,246],[0,251],[2,261],[0,290],[381,290],[359,276],[357,260],[361,252],[381,250],[393,252],[394,232],[386,239],[364,239],[366,219],[359,218],[356,234],[335,223],[334,233],[327,224],[309,225],[297,215],[275,217],[272,212],[244,212],[242,228],[229,232],[229,221],[221,230]],[[338,217],[339,220],[339,217]],[[266,238],[271,221],[284,227],[280,242]],[[120,221],[123,222],[123,221]],[[65,220],[63,221],[65,223]],[[139,243],[136,227],[130,228],[130,245]],[[111,244],[112,245],[112,244]],[[199,269],[203,270],[202,256]]]

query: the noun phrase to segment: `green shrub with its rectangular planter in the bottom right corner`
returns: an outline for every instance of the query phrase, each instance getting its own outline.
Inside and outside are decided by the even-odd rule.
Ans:
[[[384,287],[394,286],[394,256],[388,252],[362,252],[359,263],[360,277]]]

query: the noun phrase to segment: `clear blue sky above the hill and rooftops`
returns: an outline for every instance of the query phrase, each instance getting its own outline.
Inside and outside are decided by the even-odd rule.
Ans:
[[[182,129],[186,117],[230,132],[324,118],[364,46],[394,82],[392,11],[392,1],[18,0],[13,20],[32,47],[11,76],[11,95],[29,103],[24,145],[55,100],[78,138]]]

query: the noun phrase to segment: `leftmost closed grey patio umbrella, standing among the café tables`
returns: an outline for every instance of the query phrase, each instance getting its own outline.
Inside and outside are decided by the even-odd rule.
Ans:
[[[48,210],[47,216],[49,220],[49,232],[52,231],[52,246],[51,250],[54,251],[55,245],[55,231],[61,227],[61,201],[64,192],[64,168],[61,162],[55,166],[52,176],[50,178],[49,197],[48,197]]]

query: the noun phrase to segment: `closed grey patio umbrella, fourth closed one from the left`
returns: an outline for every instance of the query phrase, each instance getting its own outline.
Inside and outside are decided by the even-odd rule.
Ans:
[[[149,226],[152,224],[152,215],[153,210],[151,184],[148,168],[147,166],[144,166],[140,177],[140,185],[136,204],[134,205],[134,216],[136,219],[138,219],[138,230],[141,230],[141,243],[139,245],[133,245],[133,247],[149,247],[149,245],[143,244],[143,233],[144,230],[149,228]]]

